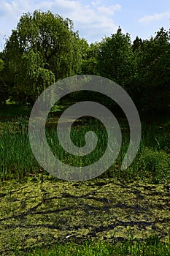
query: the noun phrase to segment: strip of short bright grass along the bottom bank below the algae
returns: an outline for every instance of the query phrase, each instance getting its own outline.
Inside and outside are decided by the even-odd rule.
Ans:
[[[18,249],[14,250],[14,255],[20,255]],[[170,255],[170,242],[163,243],[157,236],[151,236],[144,241],[136,239],[128,239],[128,241],[117,242],[117,244],[109,244],[106,241],[85,241],[83,244],[55,244],[55,246],[46,246],[45,248],[31,249],[30,252],[22,252],[21,255],[28,256],[110,256],[110,255]]]

